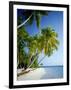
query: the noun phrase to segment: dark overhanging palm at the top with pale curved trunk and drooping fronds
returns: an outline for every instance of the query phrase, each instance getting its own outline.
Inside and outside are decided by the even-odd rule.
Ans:
[[[24,21],[17,26],[17,29],[24,26],[27,22],[29,24],[33,23],[33,20],[36,20],[36,25],[40,27],[41,17],[44,15],[48,15],[47,11],[38,11],[38,10],[25,10],[22,11],[22,16],[24,16]]]

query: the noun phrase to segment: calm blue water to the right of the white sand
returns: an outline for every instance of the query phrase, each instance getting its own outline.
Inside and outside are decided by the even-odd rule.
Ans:
[[[45,74],[41,79],[59,79],[63,78],[63,66],[47,66],[43,67]]]

